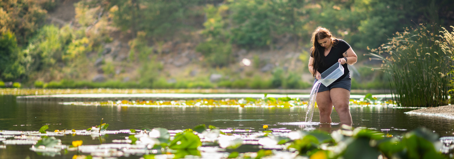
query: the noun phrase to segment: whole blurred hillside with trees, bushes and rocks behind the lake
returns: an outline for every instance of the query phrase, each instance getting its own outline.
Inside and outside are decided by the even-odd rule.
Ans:
[[[383,89],[389,78],[370,70],[376,64],[362,56],[367,47],[419,23],[454,24],[449,0],[67,2],[0,2],[1,81],[44,88],[306,89],[309,35],[323,26],[359,55],[352,88]],[[72,20],[55,23],[54,14],[67,6],[74,6]],[[109,50],[118,41],[118,50]],[[170,65],[184,52],[189,62]],[[295,56],[286,57],[289,52]],[[242,58],[252,65],[239,66]],[[213,74],[222,78],[210,80]]]

